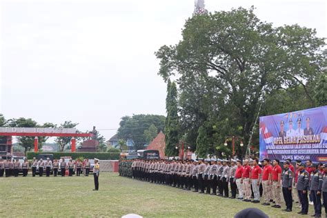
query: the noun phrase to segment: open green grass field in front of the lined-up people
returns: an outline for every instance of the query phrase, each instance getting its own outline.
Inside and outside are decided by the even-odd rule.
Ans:
[[[270,217],[306,217],[234,199],[148,184],[116,173],[102,173],[99,191],[90,177],[0,178],[0,217],[233,217],[257,207]],[[284,207],[284,206],[283,206]],[[309,208],[313,214],[313,206]]]

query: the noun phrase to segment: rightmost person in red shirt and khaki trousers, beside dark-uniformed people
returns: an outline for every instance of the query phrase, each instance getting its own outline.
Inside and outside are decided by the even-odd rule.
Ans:
[[[275,205],[273,208],[281,208],[281,167],[279,166],[279,159],[273,161],[273,171],[271,173],[271,180],[273,181],[273,195],[275,197]]]

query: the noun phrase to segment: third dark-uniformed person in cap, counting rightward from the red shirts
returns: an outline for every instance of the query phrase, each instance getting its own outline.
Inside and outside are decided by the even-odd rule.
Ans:
[[[315,214],[313,216],[321,217],[321,188],[323,175],[321,175],[321,172],[317,169],[317,164],[313,164],[311,168],[313,168],[313,170],[310,175],[309,187],[310,195],[313,198],[313,206],[315,208]]]

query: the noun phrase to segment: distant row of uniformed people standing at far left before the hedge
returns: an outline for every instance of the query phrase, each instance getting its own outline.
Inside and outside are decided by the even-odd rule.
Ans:
[[[22,164],[19,162],[19,159],[14,161],[10,159],[0,159],[0,177],[4,175],[6,175],[6,177],[18,177],[19,172],[22,172],[23,177],[26,177],[29,171],[32,172],[32,177],[35,177],[35,175],[42,177],[43,174],[45,174],[46,177],[50,177],[50,174],[53,174],[54,177],[57,177],[58,174],[60,174],[61,177],[64,177],[66,174],[70,177],[73,174],[76,174],[77,177],[81,174],[88,177],[90,170],[92,169],[88,159],[83,161],[80,159],[77,159],[77,161],[70,159],[68,163],[66,163],[65,159],[59,161],[54,159],[51,161],[49,158],[46,160],[37,160],[33,158],[31,163],[29,163],[28,159],[25,159]]]

